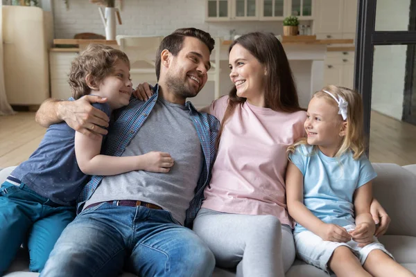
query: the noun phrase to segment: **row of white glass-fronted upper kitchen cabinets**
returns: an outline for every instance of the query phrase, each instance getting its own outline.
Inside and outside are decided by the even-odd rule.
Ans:
[[[288,15],[313,19],[319,0],[205,0],[205,21],[283,21]]]

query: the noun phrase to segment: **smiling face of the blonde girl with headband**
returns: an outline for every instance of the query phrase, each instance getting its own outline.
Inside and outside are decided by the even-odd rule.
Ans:
[[[324,97],[311,99],[304,123],[309,145],[317,145],[322,153],[333,157],[340,148],[346,127],[336,105]]]

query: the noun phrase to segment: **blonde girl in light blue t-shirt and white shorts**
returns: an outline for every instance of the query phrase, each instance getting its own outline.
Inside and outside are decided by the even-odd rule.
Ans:
[[[313,95],[286,171],[297,256],[336,276],[415,276],[374,236],[376,172],[364,154],[361,96],[329,86]]]

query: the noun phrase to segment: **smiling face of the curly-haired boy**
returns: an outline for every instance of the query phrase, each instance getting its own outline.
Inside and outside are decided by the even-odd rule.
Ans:
[[[100,83],[98,94],[107,97],[108,104],[114,110],[128,105],[132,91],[130,69],[125,62],[119,60],[114,66],[113,73],[107,75]]]

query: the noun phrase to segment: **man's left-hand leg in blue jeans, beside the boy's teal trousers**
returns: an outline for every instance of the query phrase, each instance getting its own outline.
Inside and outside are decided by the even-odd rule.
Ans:
[[[53,247],[40,276],[118,276],[125,260],[128,218],[110,204],[99,204],[76,217]],[[127,239],[126,239],[127,240]]]

